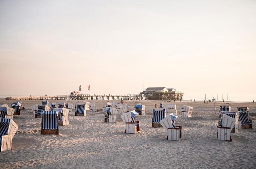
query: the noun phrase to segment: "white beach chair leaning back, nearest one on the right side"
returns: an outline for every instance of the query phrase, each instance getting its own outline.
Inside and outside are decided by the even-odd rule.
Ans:
[[[231,131],[234,128],[236,119],[224,113],[221,114],[221,122],[217,126],[217,139],[232,141]]]

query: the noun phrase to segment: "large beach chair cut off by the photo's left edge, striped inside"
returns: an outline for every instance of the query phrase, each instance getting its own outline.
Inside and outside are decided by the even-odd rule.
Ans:
[[[0,118],[0,151],[12,149],[12,139],[18,125],[10,118]]]

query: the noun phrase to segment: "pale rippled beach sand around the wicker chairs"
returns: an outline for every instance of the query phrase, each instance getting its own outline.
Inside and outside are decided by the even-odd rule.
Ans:
[[[61,100],[49,100],[49,102]],[[89,100],[90,101],[90,100]],[[0,99],[0,104],[12,101]],[[68,102],[72,103],[72,101]],[[102,100],[93,100],[102,109]],[[110,101],[111,102],[111,101]],[[141,133],[125,134],[121,114],[117,123],[104,123],[104,114],[87,112],[86,117],[69,116],[69,126],[60,126],[59,135],[41,135],[40,118],[34,119],[30,106],[41,100],[24,100],[20,116],[13,120],[19,129],[12,140],[12,151],[0,152],[0,168],[255,168],[256,116],[254,129],[232,133],[233,142],[217,140],[217,114],[213,103],[176,101],[182,126],[181,141],[166,140],[163,128],[151,128],[152,108],[160,101],[140,101],[146,116],[139,116]],[[126,101],[131,108],[137,101]],[[173,102],[171,102],[173,104]],[[181,106],[194,107],[192,118],[181,118]],[[256,114],[256,104],[231,103],[249,107]]]

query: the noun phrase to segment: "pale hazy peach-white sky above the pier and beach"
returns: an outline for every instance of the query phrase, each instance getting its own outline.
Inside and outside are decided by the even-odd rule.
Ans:
[[[256,99],[255,0],[1,0],[0,97]],[[90,91],[88,86],[90,85]]]

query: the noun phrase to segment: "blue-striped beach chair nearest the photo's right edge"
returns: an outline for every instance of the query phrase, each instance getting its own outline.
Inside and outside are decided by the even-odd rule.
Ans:
[[[252,120],[249,119],[249,111],[238,112],[238,129],[252,129]]]

